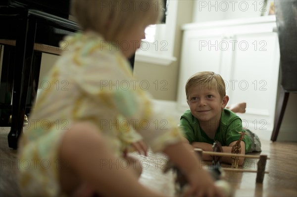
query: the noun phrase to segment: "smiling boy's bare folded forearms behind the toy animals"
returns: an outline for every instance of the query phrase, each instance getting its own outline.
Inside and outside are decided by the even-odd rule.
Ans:
[[[229,146],[223,146],[223,151],[224,153],[231,153],[232,151],[232,146],[235,145],[237,141],[234,141],[232,143],[229,144]],[[205,142],[193,142],[192,146],[194,148],[199,148],[202,149],[203,151],[212,151],[212,144],[208,144]],[[245,142],[241,141],[241,155],[245,155],[246,154],[246,145]],[[202,159],[203,160],[207,160],[207,161],[211,161],[212,160],[212,156],[210,155],[202,155]],[[244,163],[245,158],[239,158],[239,165],[241,166]],[[222,157],[222,162],[223,163],[228,163],[231,164],[231,157]]]

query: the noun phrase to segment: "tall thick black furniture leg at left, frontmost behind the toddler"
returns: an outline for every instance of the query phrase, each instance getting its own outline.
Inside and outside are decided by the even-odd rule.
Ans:
[[[24,21],[25,20],[25,21]],[[11,129],[8,134],[8,146],[17,149],[18,139],[23,131],[28,84],[31,73],[32,56],[36,34],[36,22],[30,17],[20,20],[16,39],[16,59],[12,96]],[[16,72],[20,70],[21,72]]]

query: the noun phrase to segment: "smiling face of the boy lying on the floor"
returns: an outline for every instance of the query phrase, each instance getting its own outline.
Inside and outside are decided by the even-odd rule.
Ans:
[[[192,115],[199,121],[220,121],[222,109],[228,100],[227,95],[222,99],[216,88],[207,85],[193,85],[188,90],[188,105]]]

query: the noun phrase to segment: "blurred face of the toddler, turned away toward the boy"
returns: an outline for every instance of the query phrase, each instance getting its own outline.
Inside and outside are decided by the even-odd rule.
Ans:
[[[119,47],[125,57],[131,57],[140,48],[141,40],[146,38],[145,29],[148,25],[141,24],[134,26],[119,40]]]

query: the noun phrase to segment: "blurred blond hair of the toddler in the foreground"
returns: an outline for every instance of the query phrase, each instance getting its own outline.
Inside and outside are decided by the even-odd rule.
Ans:
[[[129,29],[159,20],[160,0],[72,0],[71,13],[83,31],[93,30],[116,41]],[[108,28],[107,28],[108,26]]]

